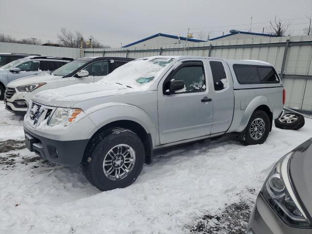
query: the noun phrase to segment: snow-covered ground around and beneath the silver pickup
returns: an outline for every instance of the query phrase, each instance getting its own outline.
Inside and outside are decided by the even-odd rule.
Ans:
[[[254,200],[273,164],[310,137],[306,119],[299,131],[273,127],[262,145],[227,135],[158,151],[132,186],[99,192],[23,148],[22,119],[0,101],[0,234],[199,232],[198,218]]]

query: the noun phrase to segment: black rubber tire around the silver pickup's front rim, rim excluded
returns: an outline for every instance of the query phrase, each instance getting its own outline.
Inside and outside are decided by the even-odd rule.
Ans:
[[[133,151],[131,152],[135,152],[135,163],[127,176],[112,180],[108,177],[110,175],[106,176],[104,173],[103,161],[105,156],[108,155],[108,152],[119,144],[125,144],[132,148]],[[101,132],[92,140],[82,160],[82,171],[88,181],[101,191],[125,188],[136,181],[137,176],[142,171],[144,159],[144,145],[142,140],[134,132],[124,128],[111,128]],[[113,164],[114,159],[112,159],[111,166],[107,167],[113,168]],[[115,168],[112,170],[115,170]],[[107,173],[106,169],[105,171]],[[123,172],[126,173],[126,171]]]

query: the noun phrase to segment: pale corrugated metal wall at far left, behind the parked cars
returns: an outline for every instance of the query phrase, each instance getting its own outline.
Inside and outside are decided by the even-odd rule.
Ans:
[[[0,42],[0,53],[38,54],[78,59],[80,50],[77,48]]]

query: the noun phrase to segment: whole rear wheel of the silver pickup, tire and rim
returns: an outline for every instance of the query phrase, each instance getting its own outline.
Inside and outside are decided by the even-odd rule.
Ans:
[[[238,139],[245,145],[262,144],[270,132],[270,119],[262,110],[256,110],[249,119],[247,127],[238,135]]]

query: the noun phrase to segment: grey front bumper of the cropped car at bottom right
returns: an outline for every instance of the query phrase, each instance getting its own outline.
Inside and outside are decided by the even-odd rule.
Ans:
[[[251,232],[251,230],[253,232]],[[287,226],[269,207],[261,194],[258,195],[250,216],[247,234],[311,234],[312,229]]]

